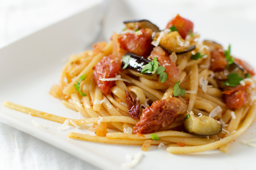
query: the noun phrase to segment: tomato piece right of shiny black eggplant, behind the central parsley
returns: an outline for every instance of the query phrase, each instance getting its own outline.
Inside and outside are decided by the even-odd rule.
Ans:
[[[154,57],[157,58],[157,61],[161,66],[165,68],[165,72],[167,73],[168,79],[164,82],[167,85],[173,85],[175,82],[179,81],[180,71],[169,58],[168,52],[166,52],[160,46],[153,48],[149,58],[153,59]]]

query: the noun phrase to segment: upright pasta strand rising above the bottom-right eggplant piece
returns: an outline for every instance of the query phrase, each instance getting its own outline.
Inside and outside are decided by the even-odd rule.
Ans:
[[[200,60],[200,59],[199,59]],[[197,95],[197,89],[198,89],[198,66],[192,65],[191,66],[191,75],[190,75],[190,91],[196,92],[196,93],[190,93],[189,97],[189,105],[188,105],[188,111],[191,111],[193,109],[193,106],[196,101],[196,95]]]

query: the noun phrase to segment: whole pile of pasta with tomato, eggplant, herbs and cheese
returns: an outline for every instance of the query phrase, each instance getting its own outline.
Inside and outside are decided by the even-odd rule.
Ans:
[[[170,153],[220,149],[255,120],[254,75],[213,41],[199,42],[179,15],[160,31],[148,20],[127,21],[121,34],[72,55],[50,94],[84,119],[69,119],[11,102],[11,109],[89,129],[68,137],[104,143],[168,145]],[[108,133],[108,129],[116,129]]]

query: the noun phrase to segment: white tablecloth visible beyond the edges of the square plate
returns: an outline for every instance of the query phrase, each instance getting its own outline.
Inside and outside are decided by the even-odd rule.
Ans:
[[[89,1],[86,0],[0,0],[0,47],[82,10],[87,3]],[[201,7],[216,10],[219,14],[256,22],[254,0],[185,0],[180,5],[198,8],[200,3]],[[69,153],[3,123],[0,123],[0,169],[98,170]]]

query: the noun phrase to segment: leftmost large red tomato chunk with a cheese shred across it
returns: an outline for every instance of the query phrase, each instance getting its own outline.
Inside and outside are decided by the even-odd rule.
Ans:
[[[102,81],[102,78],[114,78],[121,68],[120,58],[115,55],[109,55],[102,58],[101,61],[95,65],[95,71],[93,71],[93,78],[105,95],[110,93],[110,88],[115,84],[115,81]]]

